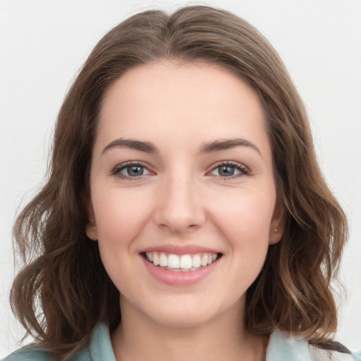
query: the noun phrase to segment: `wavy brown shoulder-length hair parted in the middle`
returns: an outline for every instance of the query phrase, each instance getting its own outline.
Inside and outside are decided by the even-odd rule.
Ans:
[[[336,331],[331,281],[347,235],[341,207],[319,170],[305,107],[281,59],[245,20],[207,6],[138,13],[106,34],[61,106],[49,180],[25,207],[15,237],[27,265],[13,283],[20,322],[54,357],[86,345],[97,322],[121,321],[119,293],[97,243],[85,235],[92,144],[104,92],[138,64],[161,59],[219,64],[262,100],[286,226],[247,290],[245,326],[324,343]],[[96,297],[94,297],[96,296]]]

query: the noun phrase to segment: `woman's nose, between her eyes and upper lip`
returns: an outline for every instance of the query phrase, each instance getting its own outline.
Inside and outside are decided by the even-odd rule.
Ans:
[[[184,174],[161,183],[154,222],[173,233],[188,233],[200,228],[206,216],[199,188],[191,176]]]

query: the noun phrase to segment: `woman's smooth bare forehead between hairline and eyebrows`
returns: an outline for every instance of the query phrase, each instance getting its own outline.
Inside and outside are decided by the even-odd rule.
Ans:
[[[102,144],[116,137],[178,145],[190,137],[247,137],[269,146],[256,92],[230,71],[206,63],[162,61],[122,75],[106,91],[98,129]]]

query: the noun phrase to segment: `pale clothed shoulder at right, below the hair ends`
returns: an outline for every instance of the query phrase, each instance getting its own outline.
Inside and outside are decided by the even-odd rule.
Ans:
[[[352,355],[339,343],[328,346],[329,349],[317,348],[303,338],[276,330],[269,338],[267,361],[361,361],[361,357]]]

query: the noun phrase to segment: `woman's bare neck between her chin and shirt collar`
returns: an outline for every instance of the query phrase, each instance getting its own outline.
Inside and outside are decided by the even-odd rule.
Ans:
[[[122,321],[111,335],[116,360],[265,360],[267,338],[245,331],[238,304],[204,324],[187,327],[164,326],[126,300],[121,304]]]

